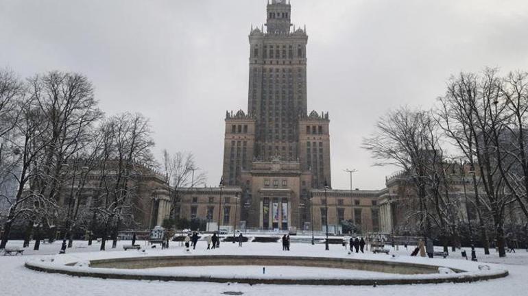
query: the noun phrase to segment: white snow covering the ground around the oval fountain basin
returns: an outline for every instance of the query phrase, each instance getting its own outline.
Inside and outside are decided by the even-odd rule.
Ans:
[[[147,282],[134,280],[101,280],[91,277],[71,277],[30,271],[23,267],[27,260],[40,260],[50,258],[53,255],[59,261],[69,262],[83,261],[86,258],[112,258],[130,256],[165,256],[182,255],[183,249],[178,243],[171,243],[168,250],[147,249],[147,255],[140,255],[138,251],[123,251],[121,245],[130,244],[130,241],[119,242],[117,249],[99,252],[99,244],[87,246],[86,242],[75,241],[74,247],[67,250],[66,256],[55,256],[60,249],[60,243],[41,245],[40,251],[33,251],[32,246],[25,251],[24,256],[1,256],[0,257],[0,291],[1,295],[221,295],[226,291],[242,292],[244,295],[526,295],[528,291],[528,253],[518,250],[516,254],[507,254],[507,258],[499,258],[492,251],[490,256],[484,256],[481,249],[477,249],[479,262],[491,262],[501,265],[507,269],[509,275],[502,279],[475,282],[468,284],[421,284],[411,286],[274,286],[274,285],[247,285],[247,284],[213,284],[213,283],[187,283],[187,282]],[[139,242],[145,245],[144,242]],[[9,246],[21,246],[22,242],[12,241]],[[108,245],[110,247],[110,245]],[[330,251],[324,251],[324,245],[292,244],[291,251],[281,250],[280,243],[245,243],[243,247],[237,244],[221,243],[220,249],[206,250],[205,243],[199,242],[197,249],[192,251],[194,255],[200,254],[263,254],[263,255],[287,255],[287,256],[331,256],[350,257],[348,251],[340,245],[331,245]],[[440,248],[438,248],[440,251]],[[398,256],[396,260],[424,263],[431,262],[455,262],[457,266],[464,266],[469,262],[461,260],[460,251],[451,254],[451,260],[434,260],[428,258],[408,258],[411,253],[400,247],[398,251],[392,250],[392,254]],[[468,255],[470,254],[469,250]],[[353,254],[352,258],[380,258],[389,256],[384,254]],[[459,261],[460,260],[460,261]],[[468,266],[468,265],[467,265]],[[252,274],[261,272],[261,267],[235,267],[238,273]],[[167,272],[173,268],[167,269]],[[187,272],[203,274],[202,268],[192,269],[184,267]],[[229,273],[230,267],[215,267],[209,269],[211,273]],[[340,270],[325,271],[324,269],[307,269],[304,267],[267,267],[267,271],[284,275],[339,275]],[[232,271],[231,271],[232,272]],[[361,274],[359,271],[348,271]],[[369,276],[368,273],[364,273]],[[370,274],[374,275],[374,274]]]

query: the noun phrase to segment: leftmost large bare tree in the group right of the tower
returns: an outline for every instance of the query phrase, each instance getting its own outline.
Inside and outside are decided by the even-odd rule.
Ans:
[[[403,169],[418,196],[418,209],[412,215],[420,217],[420,230],[426,236],[435,223],[443,237],[455,232],[453,203],[448,197],[444,171],[444,156],[435,120],[423,110],[400,108],[383,116],[376,132],[363,139],[363,148],[379,162]],[[446,245],[444,245],[446,246]]]

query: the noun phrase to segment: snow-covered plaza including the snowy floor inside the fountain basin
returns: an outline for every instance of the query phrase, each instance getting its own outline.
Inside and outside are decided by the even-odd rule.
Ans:
[[[138,242],[143,249],[140,251],[123,251],[123,245],[130,241],[120,241],[116,249],[99,251],[99,244],[88,246],[84,241],[75,241],[73,248],[66,255],[56,255],[60,249],[60,241],[41,245],[39,251],[33,251],[32,246],[26,249],[23,256],[0,257],[0,286],[2,295],[223,295],[226,292],[243,293],[243,295],[525,295],[528,290],[526,274],[528,273],[528,252],[517,250],[499,258],[498,254],[485,256],[477,249],[477,264],[461,258],[460,251],[450,254],[448,259],[411,257],[413,247],[398,250],[390,247],[389,255],[349,254],[341,245],[330,245],[325,251],[324,245],[298,243],[291,245],[291,251],[282,251],[280,243],[244,243],[222,242],[219,249],[206,249],[206,243],[199,241],[195,250],[189,253],[178,243],[171,243],[169,249],[152,249],[145,242]],[[22,245],[21,241],[11,241],[10,247]],[[438,251],[440,247],[436,247]],[[468,254],[469,249],[466,249]],[[32,271],[24,267],[25,262],[51,264],[57,267],[67,262],[79,262],[71,269],[86,269],[89,260],[105,258],[132,258],[151,256],[315,256],[331,258],[355,258],[362,260],[387,260],[392,262],[411,262],[416,264],[431,264],[451,267],[453,269],[471,270],[479,266],[489,266],[491,271],[507,270],[507,277],[472,283],[447,284],[414,284],[387,286],[315,286],[315,285],[270,285],[270,284],[237,284],[209,282],[160,282],[146,280],[110,280],[93,277],[73,277],[56,273]],[[52,261],[53,260],[53,261]],[[248,262],[245,266],[214,266],[214,267],[161,267],[151,269],[130,269],[126,272],[157,275],[187,275],[213,277],[252,277],[252,278],[384,278],[394,277],[394,274],[350,269],[327,269],[294,266],[264,266]],[[475,269],[476,270],[476,269]],[[479,272],[479,271],[477,271]],[[484,271],[486,272],[486,271]],[[413,277],[418,275],[396,275],[397,277]],[[421,275],[424,276],[424,275]],[[432,275],[428,275],[432,276]],[[437,275],[444,276],[444,275]]]

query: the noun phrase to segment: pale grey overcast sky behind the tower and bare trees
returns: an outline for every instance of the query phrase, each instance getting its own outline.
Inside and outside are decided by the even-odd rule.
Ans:
[[[0,67],[84,73],[107,114],[142,112],[156,153],[193,151],[218,184],[226,110],[247,110],[248,34],[266,0],[0,0]],[[459,71],[528,70],[526,0],[291,0],[307,25],[308,108],[330,112],[333,188],[383,188],[361,139],[429,108]]]

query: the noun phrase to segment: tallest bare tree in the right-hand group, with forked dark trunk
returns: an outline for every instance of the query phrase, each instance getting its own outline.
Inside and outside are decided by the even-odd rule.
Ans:
[[[461,73],[451,77],[447,94],[440,99],[440,118],[447,136],[464,153],[472,171],[478,167],[480,172],[479,180],[473,174],[473,186],[486,252],[483,212],[490,213],[499,256],[505,256],[504,212],[514,199],[505,194],[505,175],[512,163],[501,143],[511,114],[507,112],[501,84],[496,69],[485,69],[481,75]]]

